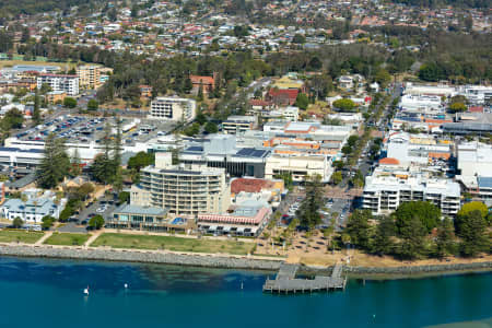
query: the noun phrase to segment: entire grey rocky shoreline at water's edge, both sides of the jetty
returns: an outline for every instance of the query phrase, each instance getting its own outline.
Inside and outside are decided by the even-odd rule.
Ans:
[[[259,259],[246,256],[221,256],[208,254],[177,254],[147,250],[126,250],[113,248],[54,247],[32,245],[1,245],[0,256],[60,258],[80,260],[102,260],[121,262],[142,262],[179,265],[190,267],[265,270],[274,272],[282,259]],[[333,267],[302,266],[301,274],[331,274]],[[352,267],[343,266],[343,272],[353,278],[399,279],[408,277],[441,276],[446,273],[466,273],[470,271],[492,271],[492,261],[471,263],[446,263],[406,267]]]

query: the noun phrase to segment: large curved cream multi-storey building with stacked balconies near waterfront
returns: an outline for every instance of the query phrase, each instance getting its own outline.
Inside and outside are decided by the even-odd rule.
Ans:
[[[231,188],[224,168],[206,165],[172,165],[171,153],[156,153],[155,165],[141,171],[139,186],[132,186],[131,204],[165,208],[172,214],[224,213]]]

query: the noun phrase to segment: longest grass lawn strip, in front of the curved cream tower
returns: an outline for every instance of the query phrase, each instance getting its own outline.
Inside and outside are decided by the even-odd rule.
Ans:
[[[149,235],[127,235],[106,233],[102,234],[91,246],[110,246],[114,248],[137,248],[137,249],[167,249],[175,251],[195,253],[225,253],[234,255],[246,255],[254,243],[241,241],[211,241],[191,239],[171,236],[149,236]]]

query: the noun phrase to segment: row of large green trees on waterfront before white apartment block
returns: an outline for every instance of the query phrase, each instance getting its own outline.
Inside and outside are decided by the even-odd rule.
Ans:
[[[487,226],[490,215],[483,203],[465,204],[453,223],[441,220],[441,210],[430,202],[400,204],[388,216],[375,218],[368,210],[355,210],[349,218],[347,234],[358,248],[401,259],[461,255],[475,257],[490,253]]]

